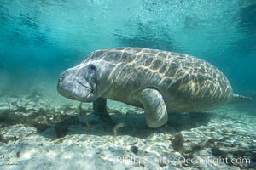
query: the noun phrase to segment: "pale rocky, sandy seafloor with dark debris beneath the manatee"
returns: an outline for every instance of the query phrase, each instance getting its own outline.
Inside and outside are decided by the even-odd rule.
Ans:
[[[110,103],[113,125],[91,104],[39,95],[0,97],[0,169],[256,169],[256,108],[169,116],[146,126],[143,110]]]

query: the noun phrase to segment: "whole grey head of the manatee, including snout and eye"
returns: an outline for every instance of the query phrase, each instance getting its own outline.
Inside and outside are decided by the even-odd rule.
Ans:
[[[57,90],[59,94],[69,99],[83,102],[96,100],[96,66],[81,63],[67,69],[59,78]]]

